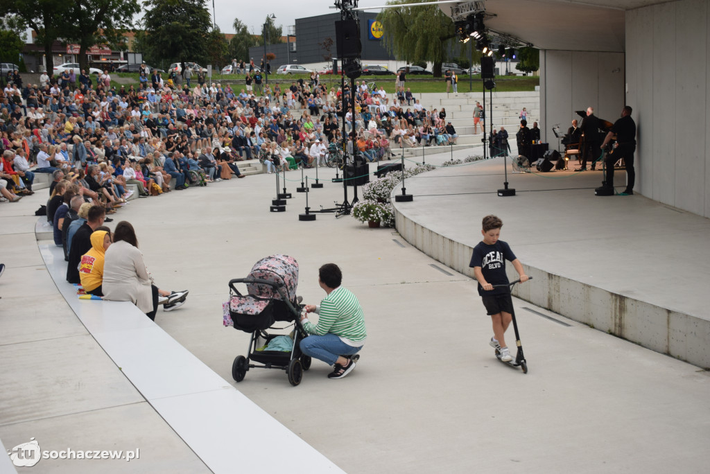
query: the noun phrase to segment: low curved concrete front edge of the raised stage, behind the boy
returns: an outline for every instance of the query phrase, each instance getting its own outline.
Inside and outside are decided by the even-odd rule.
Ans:
[[[439,262],[471,278],[473,248],[432,231],[395,207],[395,227],[405,241]],[[523,265],[530,284],[516,285],[513,294],[558,314],[569,315],[599,331],[626,338],[653,351],[710,367],[710,321],[655,304],[609,292],[584,282]],[[515,271],[508,265],[512,280]],[[575,315],[575,316],[572,316]]]

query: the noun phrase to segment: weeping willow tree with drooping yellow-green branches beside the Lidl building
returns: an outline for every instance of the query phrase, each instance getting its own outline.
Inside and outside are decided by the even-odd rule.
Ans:
[[[393,0],[388,5],[411,4],[426,0]],[[403,6],[384,9],[377,20],[382,23],[383,41],[398,60],[430,61],[434,77],[441,77],[451,40],[456,37],[454,22],[437,5]]]

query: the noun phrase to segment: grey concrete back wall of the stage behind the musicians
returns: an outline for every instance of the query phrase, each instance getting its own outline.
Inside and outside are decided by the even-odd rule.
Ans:
[[[542,140],[557,142],[552,126],[562,131],[578,118],[576,110],[594,107],[594,115],[615,121],[624,106],[623,53],[540,51],[540,128]]]

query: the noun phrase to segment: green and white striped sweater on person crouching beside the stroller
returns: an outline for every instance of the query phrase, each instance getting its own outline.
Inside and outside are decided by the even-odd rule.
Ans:
[[[335,334],[350,346],[362,346],[365,342],[365,316],[360,302],[350,290],[337,287],[320,302],[317,313],[318,324],[307,320],[303,323],[308,334]]]

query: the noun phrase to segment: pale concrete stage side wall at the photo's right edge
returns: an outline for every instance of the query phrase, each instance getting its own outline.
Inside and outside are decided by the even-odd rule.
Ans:
[[[636,189],[710,217],[710,6],[626,13],[626,101],[638,126]]]

